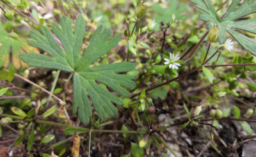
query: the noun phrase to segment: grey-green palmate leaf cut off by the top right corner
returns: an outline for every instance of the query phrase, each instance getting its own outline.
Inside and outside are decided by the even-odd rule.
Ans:
[[[256,18],[239,20],[246,15],[256,12],[256,1],[244,0],[243,4],[239,6],[240,1],[233,0],[221,19],[209,0],[191,0],[192,3],[196,4],[196,8],[199,9],[200,13],[202,13],[199,18],[205,22],[211,22],[209,29],[215,24],[220,27],[220,44],[226,41],[225,31],[227,31],[244,49],[256,56],[256,41],[237,31],[242,30],[256,34]]]

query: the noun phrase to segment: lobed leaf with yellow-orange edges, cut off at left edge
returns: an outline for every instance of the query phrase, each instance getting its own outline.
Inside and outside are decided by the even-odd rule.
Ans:
[[[0,22],[0,67],[7,67],[10,63],[10,56],[12,56],[12,63],[16,69],[20,66],[26,67],[27,65],[20,61],[19,54],[31,52],[33,47],[30,47],[25,38],[12,32],[8,33],[4,30]],[[36,50],[35,50],[36,51]],[[10,53],[12,52],[12,55]]]

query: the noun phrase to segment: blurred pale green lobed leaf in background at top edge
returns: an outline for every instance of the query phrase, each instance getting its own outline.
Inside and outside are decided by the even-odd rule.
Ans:
[[[157,30],[159,30],[162,21],[164,21],[165,24],[172,22],[172,15],[175,15],[175,19],[180,20],[189,18],[189,15],[183,14],[187,11],[187,6],[185,4],[179,4],[179,1],[177,0],[169,0],[168,4],[169,8],[162,8],[158,3],[152,5],[152,10],[157,13],[154,15],[154,20],[156,20],[157,23],[155,28]]]

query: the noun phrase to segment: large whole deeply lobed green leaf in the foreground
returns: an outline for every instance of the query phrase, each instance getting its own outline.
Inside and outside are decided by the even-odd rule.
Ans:
[[[115,47],[120,41],[120,35],[109,40],[112,34],[111,30],[99,26],[93,34],[90,45],[80,56],[85,30],[83,17],[76,19],[74,33],[72,20],[68,20],[67,17],[61,18],[60,25],[61,27],[53,24],[52,31],[61,41],[63,48],[54,39],[51,31],[42,26],[42,34],[38,31],[31,31],[30,35],[33,40],[29,40],[28,43],[44,50],[51,57],[41,54],[22,54],[20,58],[30,66],[74,72],[73,113],[75,114],[78,108],[79,118],[84,124],[88,124],[92,116],[92,107],[88,96],[90,96],[100,119],[106,120],[106,114],[116,117],[118,110],[113,103],[122,105],[123,101],[115,94],[99,86],[97,82],[101,82],[122,96],[129,96],[124,87],[133,87],[134,81],[132,79],[134,77],[117,73],[131,71],[135,64],[127,62],[99,66],[91,66],[91,64]]]

